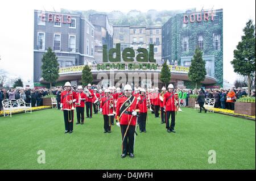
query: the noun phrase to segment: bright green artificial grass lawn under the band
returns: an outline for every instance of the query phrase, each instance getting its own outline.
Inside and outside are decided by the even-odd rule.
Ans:
[[[103,133],[101,114],[76,125],[75,113],[72,134],[64,134],[63,112],[56,109],[0,117],[0,169],[255,169],[255,121],[182,110],[176,133],[148,112],[134,159],[118,155],[120,128],[112,125],[112,133]],[[46,163],[38,163],[39,150]],[[216,163],[208,163],[209,150],[216,151]]]

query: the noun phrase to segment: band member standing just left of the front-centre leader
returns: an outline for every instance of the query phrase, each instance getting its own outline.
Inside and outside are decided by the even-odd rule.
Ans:
[[[111,133],[111,122],[114,122],[113,107],[114,99],[110,96],[110,90],[105,90],[105,97],[101,98],[100,112],[104,119],[104,133]]]

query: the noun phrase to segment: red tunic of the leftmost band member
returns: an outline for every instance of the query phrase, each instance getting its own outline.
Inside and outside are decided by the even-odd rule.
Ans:
[[[73,96],[73,97],[72,97]],[[60,95],[60,107],[63,108],[63,110],[71,110],[72,104],[68,104],[69,100],[73,101],[73,106],[75,107],[75,102],[77,100],[77,95],[75,91],[63,91]]]

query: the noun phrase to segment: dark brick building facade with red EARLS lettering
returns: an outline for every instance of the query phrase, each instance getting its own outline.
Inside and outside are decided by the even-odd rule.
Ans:
[[[51,47],[60,68],[94,61],[92,23],[81,15],[34,10],[34,82],[42,74],[42,57]]]

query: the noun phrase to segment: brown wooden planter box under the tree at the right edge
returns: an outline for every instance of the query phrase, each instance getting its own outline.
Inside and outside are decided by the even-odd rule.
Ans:
[[[255,116],[255,103],[235,102],[234,113]]]

